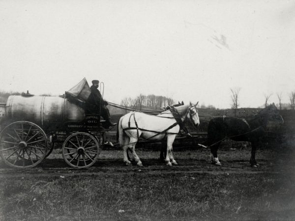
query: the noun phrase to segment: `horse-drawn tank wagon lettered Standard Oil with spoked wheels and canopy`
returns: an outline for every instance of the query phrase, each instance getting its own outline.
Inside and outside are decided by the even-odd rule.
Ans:
[[[62,96],[11,95],[0,105],[0,157],[8,166],[38,165],[62,142],[64,161],[72,167],[93,165],[103,143],[99,114],[85,109],[86,79]]]

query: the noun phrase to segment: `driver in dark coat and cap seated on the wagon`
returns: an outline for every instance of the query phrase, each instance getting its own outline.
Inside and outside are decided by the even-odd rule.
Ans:
[[[111,126],[115,126],[116,123],[112,123],[110,121],[110,111],[107,109],[108,102],[102,99],[102,96],[97,89],[99,86],[98,80],[93,80],[92,85],[90,86],[91,93],[89,98],[87,99],[87,110],[92,113],[99,113],[105,119],[103,123],[104,128],[109,128]]]

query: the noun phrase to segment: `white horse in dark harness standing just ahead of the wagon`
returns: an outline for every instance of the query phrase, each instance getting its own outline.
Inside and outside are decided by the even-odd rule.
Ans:
[[[196,105],[190,103],[175,107],[158,115],[150,115],[143,112],[130,112],[122,116],[118,123],[118,136],[120,146],[123,148],[123,161],[126,165],[131,162],[127,158],[127,149],[133,154],[138,166],[143,166],[135,152],[135,145],[139,138],[148,140],[161,140],[167,138],[166,165],[177,165],[173,158],[172,144],[176,138],[181,124],[186,118],[190,119],[195,127],[200,124]]]

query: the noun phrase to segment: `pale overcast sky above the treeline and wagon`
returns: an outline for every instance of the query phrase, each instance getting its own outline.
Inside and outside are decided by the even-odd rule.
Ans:
[[[155,94],[216,108],[289,102],[295,0],[0,0],[0,91]]]

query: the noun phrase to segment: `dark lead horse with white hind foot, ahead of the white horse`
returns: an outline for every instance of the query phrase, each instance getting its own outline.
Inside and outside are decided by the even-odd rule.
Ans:
[[[253,119],[240,119],[236,117],[214,117],[208,124],[208,146],[211,150],[212,164],[221,166],[217,150],[222,140],[230,138],[236,141],[251,142],[250,165],[257,167],[255,159],[256,148],[260,143],[260,138],[266,133],[268,121],[279,124],[284,122],[282,116],[274,104],[258,112]]]

